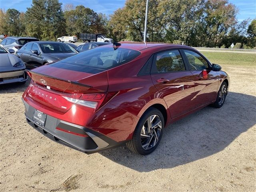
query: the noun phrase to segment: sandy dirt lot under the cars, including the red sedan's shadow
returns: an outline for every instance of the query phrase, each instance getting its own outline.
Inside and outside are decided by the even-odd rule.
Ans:
[[[223,70],[232,82],[224,106],[171,124],[149,156],[57,144],[26,123],[28,82],[0,87],[0,191],[255,191],[255,65]]]

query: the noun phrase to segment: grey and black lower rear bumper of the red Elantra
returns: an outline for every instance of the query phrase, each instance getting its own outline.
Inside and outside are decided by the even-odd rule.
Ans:
[[[125,144],[125,142],[116,142],[89,128],[65,122],[49,115],[46,117],[45,125],[41,126],[33,120],[35,108],[28,105],[23,99],[22,101],[26,107],[25,116],[28,124],[55,142],[87,154]]]

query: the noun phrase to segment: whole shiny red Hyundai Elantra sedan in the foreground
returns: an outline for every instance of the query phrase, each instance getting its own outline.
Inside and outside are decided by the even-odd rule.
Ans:
[[[86,153],[126,143],[150,154],[170,122],[209,104],[220,108],[230,85],[218,64],[172,44],[115,43],[28,74],[27,122]]]

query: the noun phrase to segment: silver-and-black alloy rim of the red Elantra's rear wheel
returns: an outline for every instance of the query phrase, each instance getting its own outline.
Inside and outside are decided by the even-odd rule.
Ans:
[[[144,123],[141,133],[140,142],[144,150],[150,150],[159,141],[162,131],[162,121],[158,115],[150,116]]]

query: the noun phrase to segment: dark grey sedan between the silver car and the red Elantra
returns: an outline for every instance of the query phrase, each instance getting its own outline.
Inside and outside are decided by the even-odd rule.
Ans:
[[[24,45],[16,55],[27,64],[28,68],[34,68],[77,53],[71,46],[62,42],[34,41]]]

